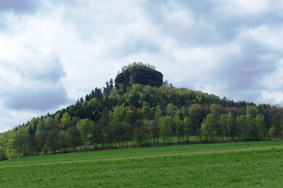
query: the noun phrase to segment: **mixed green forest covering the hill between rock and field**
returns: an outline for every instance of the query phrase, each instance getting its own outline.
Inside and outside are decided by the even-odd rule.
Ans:
[[[133,84],[95,88],[74,105],[0,134],[0,159],[59,151],[196,141],[281,138],[283,108],[220,99],[186,88]]]

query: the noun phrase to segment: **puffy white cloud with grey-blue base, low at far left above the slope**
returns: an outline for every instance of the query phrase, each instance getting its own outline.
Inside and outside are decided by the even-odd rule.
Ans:
[[[61,82],[65,72],[56,53],[36,52],[21,64],[1,61],[0,94],[6,108],[46,110],[67,101]]]

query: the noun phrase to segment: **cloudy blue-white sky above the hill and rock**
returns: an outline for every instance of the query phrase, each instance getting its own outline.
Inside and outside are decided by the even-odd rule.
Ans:
[[[1,0],[0,132],[139,61],[177,88],[283,106],[283,1]]]

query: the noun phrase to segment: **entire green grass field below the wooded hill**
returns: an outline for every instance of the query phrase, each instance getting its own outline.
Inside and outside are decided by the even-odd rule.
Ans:
[[[188,144],[0,162],[0,187],[283,187],[282,140]]]

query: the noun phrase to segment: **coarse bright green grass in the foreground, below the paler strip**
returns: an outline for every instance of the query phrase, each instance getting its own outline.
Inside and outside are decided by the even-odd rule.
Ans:
[[[282,187],[282,148],[0,168],[1,187]]]

